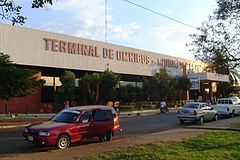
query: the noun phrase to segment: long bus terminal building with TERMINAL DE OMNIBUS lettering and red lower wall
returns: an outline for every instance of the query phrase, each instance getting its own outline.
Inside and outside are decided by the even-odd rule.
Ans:
[[[212,86],[203,89],[207,92],[215,83],[229,81],[228,75],[204,72],[206,66],[200,61],[6,24],[0,24],[0,52],[8,54],[19,67],[38,70],[41,79],[46,80],[44,87],[32,95],[0,100],[0,114],[40,112],[53,101],[65,70],[80,78],[108,68],[121,76],[120,84],[141,87],[142,77],[151,77],[166,68],[175,76],[188,76],[199,86]]]

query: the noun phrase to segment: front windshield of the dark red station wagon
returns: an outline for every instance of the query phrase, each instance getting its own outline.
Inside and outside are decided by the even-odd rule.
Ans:
[[[54,116],[51,120],[54,122],[73,123],[79,116],[80,112],[77,111],[62,111]]]

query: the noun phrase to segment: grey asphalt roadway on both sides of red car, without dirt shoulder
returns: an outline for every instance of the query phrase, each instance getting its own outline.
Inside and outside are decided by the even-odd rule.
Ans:
[[[116,137],[181,127],[176,113],[121,118],[120,125],[123,132],[117,134]],[[0,154],[44,152],[48,150],[24,141],[22,137],[23,130],[24,128],[0,130]]]

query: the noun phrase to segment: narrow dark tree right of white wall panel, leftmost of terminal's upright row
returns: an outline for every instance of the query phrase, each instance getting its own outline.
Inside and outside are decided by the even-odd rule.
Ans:
[[[65,101],[69,101],[70,104],[75,100],[75,75],[71,71],[64,71],[60,77],[62,85],[56,92],[56,105],[60,106]]]

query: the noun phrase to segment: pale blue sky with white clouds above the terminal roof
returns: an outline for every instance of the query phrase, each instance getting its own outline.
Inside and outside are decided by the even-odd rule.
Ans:
[[[194,27],[216,9],[216,0],[129,0]],[[194,59],[186,43],[196,29],[169,20],[124,0],[53,0],[53,5],[31,9],[30,0],[15,0],[27,17],[23,27],[61,33]],[[6,22],[4,22],[6,23]],[[10,22],[7,22],[10,23]]]

